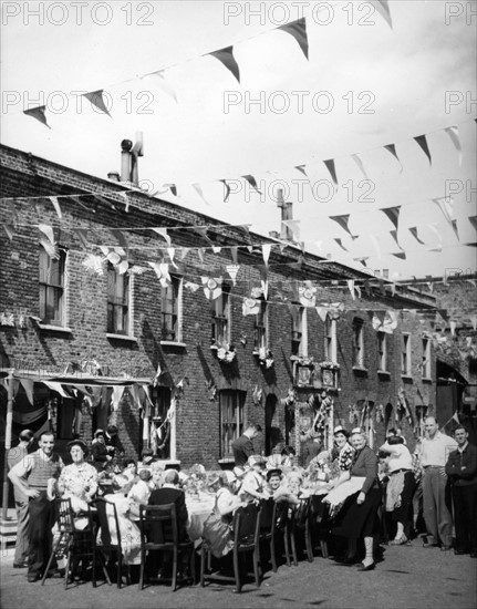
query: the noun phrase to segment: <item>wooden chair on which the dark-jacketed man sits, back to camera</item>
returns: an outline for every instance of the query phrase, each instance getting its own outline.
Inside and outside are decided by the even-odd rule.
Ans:
[[[195,582],[195,554],[194,541],[179,541],[177,514],[175,504],[165,505],[142,505],[139,508],[139,528],[141,528],[141,574],[139,574],[139,590],[144,587],[144,569],[146,566],[147,553],[159,550],[169,551],[173,555],[173,575],[172,590],[177,589],[177,567],[179,551],[189,553],[189,569],[190,576],[188,580]],[[160,530],[162,541],[149,540],[151,531]],[[166,578],[168,579],[168,578]]]

